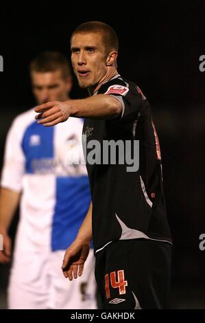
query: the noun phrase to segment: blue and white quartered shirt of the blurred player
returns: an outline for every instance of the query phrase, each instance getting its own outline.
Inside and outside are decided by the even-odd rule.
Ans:
[[[33,109],[18,115],[5,144],[1,187],[22,192],[16,249],[67,249],[91,202],[83,122],[45,127],[34,116]]]

